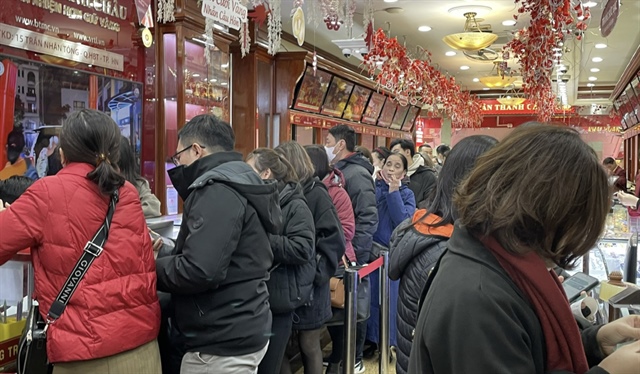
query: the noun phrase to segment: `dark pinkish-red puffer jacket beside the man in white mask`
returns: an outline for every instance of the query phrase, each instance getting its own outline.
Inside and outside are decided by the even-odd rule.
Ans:
[[[356,261],[356,252],[353,250],[353,244],[351,244],[353,235],[356,233],[356,221],[351,198],[349,198],[349,194],[344,189],[344,176],[342,176],[340,170],[334,169],[322,182],[327,186],[333,205],[338,211],[338,218],[344,231],[344,240],[347,243],[344,253],[349,261]]]

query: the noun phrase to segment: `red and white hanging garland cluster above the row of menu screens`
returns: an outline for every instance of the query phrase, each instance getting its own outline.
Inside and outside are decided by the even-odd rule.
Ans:
[[[408,97],[413,105],[438,104],[451,117],[455,127],[479,127],[482,104],[468,91],[462,91],[453,77],[445,76],[426,59],[413,59],[397,38],[387,37],[382,29],[374,35],[369,53],[364,57],[369,75],[399,97]]]

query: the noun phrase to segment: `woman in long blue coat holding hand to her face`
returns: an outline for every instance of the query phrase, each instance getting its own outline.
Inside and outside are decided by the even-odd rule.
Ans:
[[[389,248],[391,233],[407,218],[413,216],[416,202],[413,192],[403,183],[407,175],[408,162],[404,155],[392,153],[384,161],[376,180],[376,204],[378,207],[378,229],[373,235],[374,247]],[[367,322],[367,340],[378,344],[380,336],[380,307],[378,288],[379,272],[371,273],[371,316]],[[390,285],[389,342],[396,346],[396,311],[398,304],[398,281]],[[383,358],[384,359],[384,358]]]

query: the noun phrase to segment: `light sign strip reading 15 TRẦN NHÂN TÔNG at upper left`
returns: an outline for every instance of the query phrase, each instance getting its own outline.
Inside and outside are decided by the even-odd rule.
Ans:
[[[24,49],[107,69],[124,71],[124,57],[117,53],[0,23],[0,45]]]

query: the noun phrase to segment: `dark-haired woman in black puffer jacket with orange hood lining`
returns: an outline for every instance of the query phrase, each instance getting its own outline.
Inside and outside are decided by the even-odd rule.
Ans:
[[[418,320],[418,300],[427,283],[429,271],[444,252],[457,217],[453,192],[464,176],[473,168],[476,159],[497,143],[486,135],[462,139],[449,154],[436,183],[434,199],[428,209],[415,212],[404,221],[391,238],[389,278],[400,279],[396,372],[409,369],[409,354],[413,330]]]

